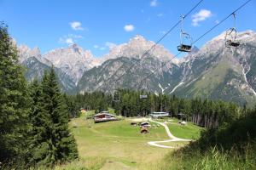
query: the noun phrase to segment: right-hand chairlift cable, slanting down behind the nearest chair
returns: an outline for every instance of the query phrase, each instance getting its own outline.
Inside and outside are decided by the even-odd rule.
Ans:
[[[230,18],[230,16],[234,13],[236,13],[238,10],[240,10],[241,8],[243,8],[247,3],[249,3],[252,0],[247,0],[247,2],[241,4],[241,6],[239,8],[236,8],[236,10],[234,12],[232,12],[231,14],[229,14],[227,17],[225,17],[223,20],[221,20],[218,24],[216,24],[215,26],[212,26],[212,28],[208,31],[206,31],[204,34],[201,35],[201,37],[198,37],[194,42],[192,42],[192,44],[195,44],[195,42],[198,42],[199,40],[201,40],[202,37],[205,37],[210,31],[212,31],[213,29],[215,29],[217,26],[219,26],[220,24],[222,24],[225,20],[227,20],[228,18]],[[172,59],[176,58],[177,55],[181,54],[181,52],[179,52],[178,54],[174,55],[172,57]],[[164,65],[162,65],[161,67],[167,65],[168,63],[170,63],[172,61],[172,59],[170,59],[168,62],[166,62]],[[147,77],[144,77],[141,82],[143,82],[143,80],[147,79],[148,77],[151,77],[151,75],[153,75],[156,71],[158,71],[160,68],[155,69],[152,73],[150,73]]]

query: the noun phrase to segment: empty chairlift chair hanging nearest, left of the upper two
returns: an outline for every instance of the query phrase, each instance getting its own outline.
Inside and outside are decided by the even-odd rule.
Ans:
[[[181,52],[190,52],[192,48],[192,37],[183,31],[183,18],[184,16],[181,15],[180,45],[177,46],[177,50]],[[183,40],[185,39],[189,41],[189,44],[183,43]]]

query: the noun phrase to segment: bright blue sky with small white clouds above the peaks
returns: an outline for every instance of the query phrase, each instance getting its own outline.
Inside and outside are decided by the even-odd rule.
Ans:
[[[0,20],[18,43],[42,53],[76,42],[92,54],[107,54],[114,44],[139,34],[156,42],[199,0],[0,0]],[[196,39],[246,0],[205,0],[184,20]],[[256,0],[237,13],[237,30],[256,31]],[[202,44],[233,26],[232,18],[207,34]],[[177,54],[179,26],[160,44]]]

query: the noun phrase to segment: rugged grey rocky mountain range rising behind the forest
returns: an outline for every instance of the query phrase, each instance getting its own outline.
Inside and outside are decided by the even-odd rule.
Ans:
[[[240,105],[256,102],[256,32],[238,33],[237,48],[226,48],[224,33],[182,59],[142,36],[114,45],[96,58],[77,44],[42,55],[38,48],[18,46],[26,78],[41,78],[54,66],[63,91],[83,93],[116,88],[143,89],[184,98],[224,99]],[[145,54],[145,52],[147,52]],[[150,76],[149,76],[150,75]]]

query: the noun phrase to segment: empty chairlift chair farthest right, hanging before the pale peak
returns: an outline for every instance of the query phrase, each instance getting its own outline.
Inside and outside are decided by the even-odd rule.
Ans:
[[[240,42],[236,41],[237,31],[236,31],[236,14],[235,13],[233,13],[233,17],[234,17],[234,27],[227,30],[225,35],[225,46],[227,48],[238,47],[240,45]]]

